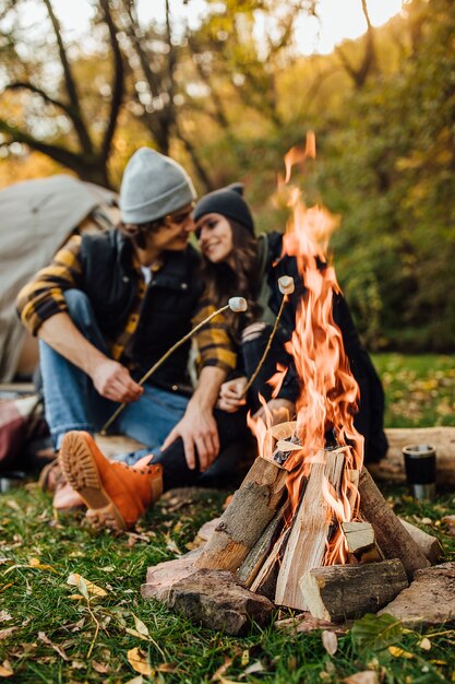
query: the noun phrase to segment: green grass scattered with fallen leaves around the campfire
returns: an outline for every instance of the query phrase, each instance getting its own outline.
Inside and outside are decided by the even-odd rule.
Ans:
[[[388,425],[409,425],[397,396],[402,391],[405,397],[409,385],[420,401],[412,413],[419,425],[435,424],[444,415],[440,403],[453,403],[454,364],[448,357],[387,355],[375,357],[375,363],[392,399]],[[422,384],[434,380],[439,394],[431,396],[429,389],[430,411]],[[454,493],[442,492],[431,504],[414,502],[400,486],[384,493],[397,514],[440,536],[447,559],[455,561],[455,539],[441,523],[444,516],[455,514]],[[0,679],[11,668],[10,681],[33,684],[320,684],[342,682],[364,670],[391,684],[455,681],[451,625],[421,632],[398,626],[384,630],[388,640],[382,635],[369,645],[360,638],[360,621],[338,636],[337,651],[330,656],[320,630],[292,635],[252,625],[247,637],[234,638],[144,601],[139,589],[147,566],[185,552],[199,527],[219,514],[225,496],[203,492],[184,505],[164,498],[134,533],[115,535],[96,533],[81,515],[57,520],[49,497],[35,484],[0,495]],[[106,595],[91,598],[83,580],[69,585],[75,573],[106,590]],[[282,611],[279,616],[289,614]],[[381,628],[378,618],[374,624]],[[130,662],[133,653],[136,669]],[[149,675],[140,674],[141,668]]]

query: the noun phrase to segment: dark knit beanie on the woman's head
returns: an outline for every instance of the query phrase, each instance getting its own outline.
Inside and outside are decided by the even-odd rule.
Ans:
[[[243,185],[232,182],[226,188],[215,190],[203,197],[194,208],[193,219],[199,221],[206,214],[221,214],[226,219],[232,219],[254,235],[254,221],[246,200],[243,199]]]

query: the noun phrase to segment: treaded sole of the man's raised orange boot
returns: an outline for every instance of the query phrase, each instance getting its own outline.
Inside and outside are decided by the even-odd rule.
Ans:
[[[59,461],[67,482],[84,499],[91,523],[127,530],[121,512],[101,484],[95,457],[80,433],[70,432],[63,437]]]

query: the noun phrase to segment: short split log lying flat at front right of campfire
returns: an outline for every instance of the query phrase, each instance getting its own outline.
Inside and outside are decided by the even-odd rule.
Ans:
[[[408,587],[400,561],[369,565],[330,565],[306,573],[300,589],[311,614],[340,622],[375,613]]]

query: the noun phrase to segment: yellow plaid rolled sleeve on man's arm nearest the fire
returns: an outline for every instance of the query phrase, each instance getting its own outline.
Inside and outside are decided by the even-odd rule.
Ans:
[[[216,310],[215,305],[204,297],[193,317],[192,326],[201,323]],[[235,343],[229,334],[228,320],[224,314],[218,314],[195,334],[195,345],[199,354],[199,365],[216,366],[229,373],[237,363]]]

